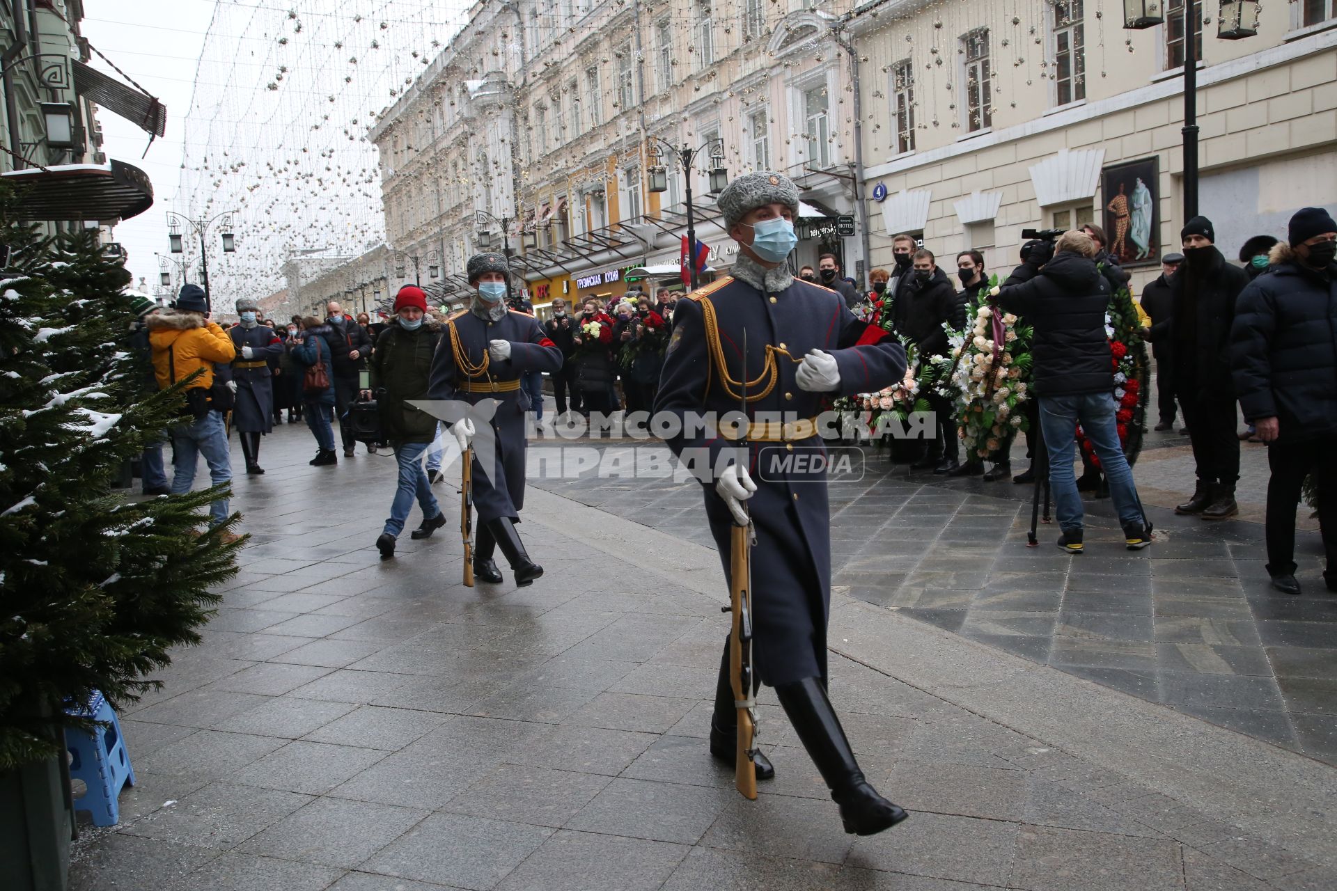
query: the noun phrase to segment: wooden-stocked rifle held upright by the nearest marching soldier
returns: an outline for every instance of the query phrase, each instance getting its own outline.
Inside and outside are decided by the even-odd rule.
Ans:
[[[742,423],[747,423],[747,331],[743,331]],[[751,448],[747,445],[747,427],[739,437],[745,461],[751,464]],[[746,466],[746,465],[745,465]],[[730,585],[729,601],[733,613],[733,629],[729,635],[729,683],[734,691],[734,705],[738,709],[738,748],[734,753],[734,787],[747,800],[757,799],[757,765],[753,763],[757,733],[757,701],[753,697],[753,622],[751,622],[751,546],[757,533],[753,526],[747,502],[742,502],[747,514],[747,525],[737,522],[729,532]]]

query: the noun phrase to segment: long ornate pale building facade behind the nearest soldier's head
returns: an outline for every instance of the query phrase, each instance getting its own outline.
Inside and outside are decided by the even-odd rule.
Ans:
[[[390,244],[436,267],[424,282],[441,299],[467,294],[477,250],[509,248],[537,307],[616,297],[632,270],[642,287],[682,287],[686,147],[701,148],[693,216],[713,270],[734,258],[707,188],[715,166],[793,176],[796,266],[832,251],[853,270],[860,240],[834,224],[857,212],[860,182],[848,13],[805,0],[476,4],[370,131]],[[663,192],[650,190],[659,164]]]

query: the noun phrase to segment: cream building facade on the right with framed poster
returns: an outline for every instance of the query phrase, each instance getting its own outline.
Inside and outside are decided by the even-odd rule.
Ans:
[[[1023,228],[1094,222],[1135,289],[1158,275],[1185,223],[1183,4],[1148,4],[1166,21],[1139,31],[1094,0],[857,9],[874,266],[909,232],[948,269],[977,248],[1005,274]],[[1243,39],[1218,37],[1217,3],[1187,12],[1199,212],[1234,258],[1251,235],[1284,236],[1298,207],[1337,204],[1337,9],[1262,4]]]

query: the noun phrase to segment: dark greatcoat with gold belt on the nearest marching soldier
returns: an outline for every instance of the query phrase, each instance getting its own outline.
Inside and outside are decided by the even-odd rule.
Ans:
[[[796,279],[777,293],[762,293],[739,279],[726,278],[678,301],[674,334],[664,355],[655,411],[670,411],[686,423],[690,415],[723,417],[739,410],[739,399],[721,383],[705,330],[703,305],[710,303],[719,325],[725,365],[733,379],[754,381],[762,374],[766,345],[802,358],[809,350],[830,353],[840,369],[840,393],[880,390],[905,374],[905,350],[881,327],[858,321],[845,299],[825,287]],[[743,365],[743,334],[747,342]],[[778,378],[771,391],[749,403],[749,417],[777,421],[813,418],[828,394],[801,390],[794,379],[798,365],[777,355]],[[765,386],[761,385],[758,390]],[[733,387],[737,390],[738,387]],[[751,395],[757,395],[754,391]],[[711,433],[683,429],[668,438],[679,461],[719,466],[730,443]],[[824,454],[820,437],[790,443],[800,454]],[[757,493],[747,501],[757,529],[751,556],[754,657],[762,683],[790,684],[805,677],[826,677],[826,622],[830,612],[830,513],[826,472],[812,466],[777,468],[774,458],[794,454],[785,445],[749,443],[750,474]],[[727,456],[723,462],[729,464]],[[725,577],[730,574],[729,538],[733,518],[723,500],[698,473],[706,517],[719,549]]]

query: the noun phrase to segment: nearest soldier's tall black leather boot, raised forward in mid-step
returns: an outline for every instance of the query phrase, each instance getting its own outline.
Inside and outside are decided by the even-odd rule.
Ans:
[[[840,719],[826,699],[826,689],[816,677],[775,688],[779,704],[804,741],[822,779],[840,806],[845,831],[852,835],[876,835],[889,830],[908,814],[877,793],[858,769]]]

